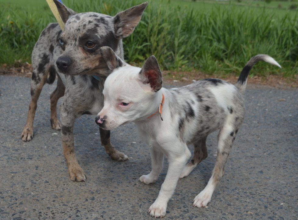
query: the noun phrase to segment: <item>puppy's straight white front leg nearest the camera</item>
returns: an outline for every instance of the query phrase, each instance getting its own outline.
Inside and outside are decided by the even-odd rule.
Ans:
[[[165,181],[161,185],[161,189],[159,191],[157,199],[149,208],[149,213],[152,217],[162,218],[165,216],[168,202],[174,193],[180,173],[182,172],[186,161],[190,158],[191,154],[186,144],[185,146],[178,147],[182,151],[169,152],[169,169],[167,172],[167,176],[165,177]]]

